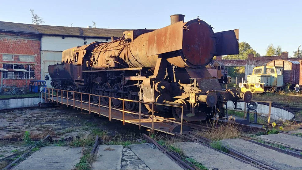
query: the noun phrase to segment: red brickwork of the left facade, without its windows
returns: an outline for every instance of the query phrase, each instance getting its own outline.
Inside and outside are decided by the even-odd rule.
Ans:
[[[4,32],[0,32],[0,35],[2,35],[0,36],[0,68],[3,67],[3,63],[35,65],[35,80],[41,80],[41,39],[37,36]],[[16,36],[16,38],[9,36]],[[35,62],[3,61],[2,54],[34,55]],[[30,79],[27,85],[29,81]],[[3,85],[26,85],[26,79],[3,79]]]

